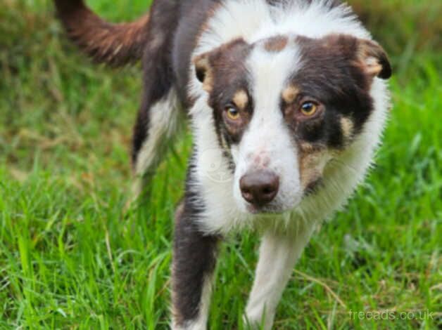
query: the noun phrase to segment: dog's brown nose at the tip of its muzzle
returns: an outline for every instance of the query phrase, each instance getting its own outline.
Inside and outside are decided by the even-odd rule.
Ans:
[[[254,206],[272,202],[279,190],[279,178],[272,171],[254,171],[239,180],[244,199]]]

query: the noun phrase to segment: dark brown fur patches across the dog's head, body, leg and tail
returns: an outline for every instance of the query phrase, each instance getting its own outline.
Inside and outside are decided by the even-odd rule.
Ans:
[[[175,96],[175,92],[184,109],[191,107],[194,100],[189,93],[189,83],[194,72],[189,67],[195,64],[198,79],[206,91],[210,91],[208,103],[213,110],[215,131],[223,155],[229,161],[229,170],[234,172],[230,147],[241,141],[254,110],[253,93],[248,93],[253,86],[250,86],[246,59],[255,45],[241,38],[234,39],[199,58],[192,58],[198,39],[208,29],[208,19],[223,5],[222,0],[156,0],[150,17],[145,15],[136,22],[115,25],[92,13],[83,0],[54,1],[71,39],[97,62],[124,65],[142,58],[144,94],[134,128],[134,164],[142,146],[156,137],[156,132],[151,132],[151,124],[155,124],[151,121],[152,107],[168,95]],[[267,0],[267,4],[282,2]],[[339,1],[327,1],[330,8],[338,5]],[[290,46],[292,39],[289,38],[273,37],[259,46],[276,53]],[[362,129],[372,111],[369,94],[372,79],[374,75],[388,77],[391,68],[384,51],[372,41],[360,42],[342,35],[322,39],[296,37],[294,41],[300,50],[302,65],[293,72],[289,82],[296,88],[286,91],[285,98],[282,93],[281,107],[293,143],[301,145],[302,185],[312,191],[320,183],[323,171],[317,160],[341,150],[348,143],[346,136]],[[247,98],[238,91],[244,91]],[[320,104],[317,114],[308,120],[299,112],[305,95]],[[284,104],[284,101],[291,103]],[[228,121],[225,109],[232,102],[244,108],[239,109],[240,119]],[[348,118],[348,122],[341,121],[342,118]],[[204,284],[215,270],[217,244],[222,238],[203,234],[204,228],[198,221],[208,205],[204,203],[201,187],[194,185],[197,151],[194,150],[189,161],[185,197],[175,220],[172,315],[175,325],[181,327],[201,314]],[[256,159],[256,162],[268,166],[268,159]],[[144,173],[147,190],[154,169],[152,166]]]

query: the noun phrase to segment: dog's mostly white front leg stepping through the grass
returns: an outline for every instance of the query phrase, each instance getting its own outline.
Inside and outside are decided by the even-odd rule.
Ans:
[[[291,277],[293,267],[308,243],[312,226],[301,226],[296,235],[267,232],[260,246],[255,282],[246,308],[246,322],[271,329],[274,312]]]

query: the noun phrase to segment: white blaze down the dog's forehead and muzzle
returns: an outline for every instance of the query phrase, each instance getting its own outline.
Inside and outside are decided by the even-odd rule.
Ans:
[[[289,44],[278,53],[258,44],[246,60],[253,114],[241,142],[232,155],[236,163],[235,180],[248,171],[269,169],[279,176],[279,193],[275,202],[291,206],[301,198],[299,189],[298,152],[281,110],[282,91],[298,67],[298,51]],[[244,202],[239,188],[234,190],[237,202]]]

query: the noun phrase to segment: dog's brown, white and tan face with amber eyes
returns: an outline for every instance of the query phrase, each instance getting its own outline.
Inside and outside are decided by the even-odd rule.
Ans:
[[[194,63],[234,197],[251,213],[293,209],[320,189],[324,167],[370,117],[373,79],[391,76],[379,45],[342,34],[237,39]]]

